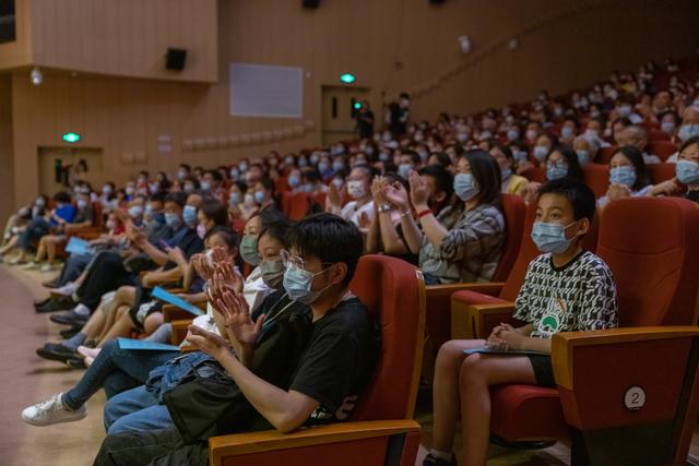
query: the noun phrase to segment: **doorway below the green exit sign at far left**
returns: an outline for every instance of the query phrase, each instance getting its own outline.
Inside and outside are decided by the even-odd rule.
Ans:
[[[79,165],[86,166],[81,179],[99,189],[104,182],[102,148],[91,147],[39,147],[39,192],[54,195],[58,191],[69,191],[76,180]]]

